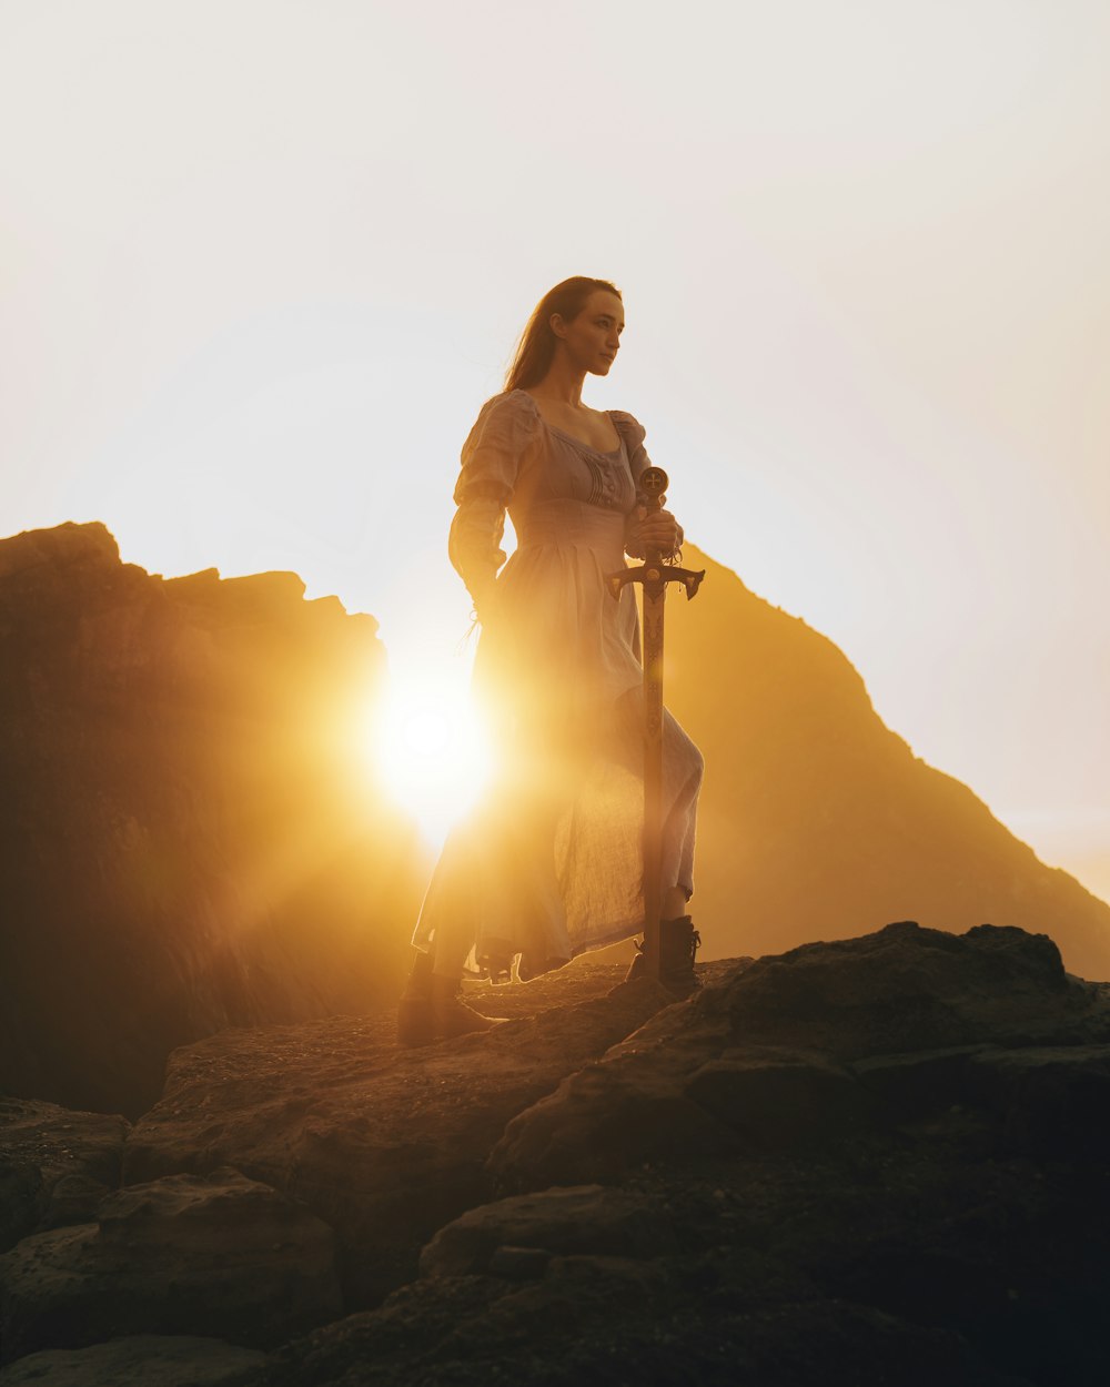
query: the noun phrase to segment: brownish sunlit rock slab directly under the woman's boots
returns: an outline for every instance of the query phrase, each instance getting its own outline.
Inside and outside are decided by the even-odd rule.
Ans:
[[[233,1031],[176,1051],[165,1096],[128,1143],[126,1179],[230,1164],[336,1229],[344,1286],[372,1304],[416,1273],[420,1247],[493,1194],[505,1123],[673,999],[580,960],[511,988],[468,988],[486,1035],[419,1050],[393,1015]],[[537,1013],[530,1015],[530,1013]]]

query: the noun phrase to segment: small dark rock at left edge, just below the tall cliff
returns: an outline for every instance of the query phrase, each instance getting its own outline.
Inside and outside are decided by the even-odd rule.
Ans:
[[[119,1184],[129,1129],[121,1117],[0,1097],[0,1251],[90,1219]]]

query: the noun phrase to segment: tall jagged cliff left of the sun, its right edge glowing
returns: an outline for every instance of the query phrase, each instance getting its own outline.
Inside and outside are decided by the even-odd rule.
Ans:
[[[135,1115],[179,1044],[395,996],[423,870],[364,755],[372,617],[61,526],[0,544],[0,1092]]]

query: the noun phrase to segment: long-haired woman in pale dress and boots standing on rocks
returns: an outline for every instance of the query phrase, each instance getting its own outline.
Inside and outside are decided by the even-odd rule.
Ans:
[[[609,374],[623,329],[610,283],[556,284],[462,449],[448,551],[483,627],[475,682],[501,768],[427,889],[398,1018],[405,1043],[494,1025],[458,996],[472,946],[519,954],[529,978],[644,928],[637,608],[630,585],[615,601],[604,578],[626,552],[676,552],[683,531],[666,510],[648,515],[637,491],[644,429],[581,401],[587,374]],[[506,510],[518,540],[508,563]],[[665,981],[683,993],[698,942],[685,904],[702,757],[670,714],[663,755],[660,945]]]

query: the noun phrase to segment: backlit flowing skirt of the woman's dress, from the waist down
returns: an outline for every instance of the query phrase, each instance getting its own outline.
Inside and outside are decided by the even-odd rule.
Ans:
[[[479,956],[520,953],[530,974],[644,928],[635,598],[604,581],[624,566],[615,517],[565,506],[544,508],[498,580],[475,662],[498,768],[450,834],[413,935],[425,950],[450,936]],[[665,714],[662,885],[687,899],[702,771]]]

